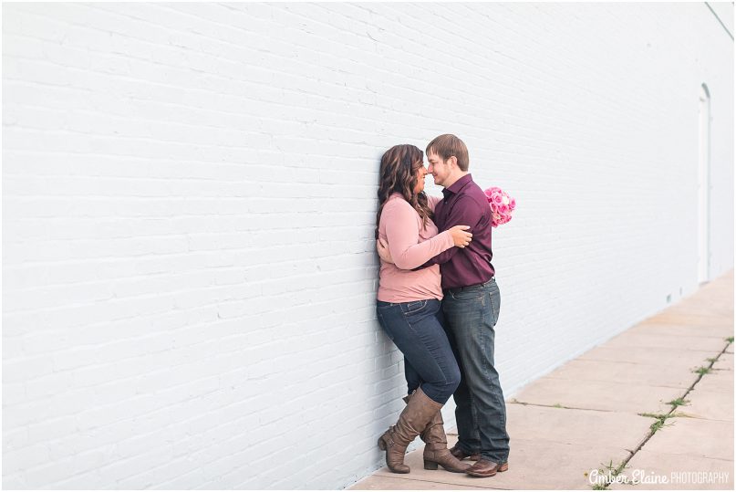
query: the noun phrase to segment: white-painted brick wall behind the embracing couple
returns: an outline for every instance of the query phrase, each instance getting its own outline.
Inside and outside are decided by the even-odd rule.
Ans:
[[[397,143],[456,133],[517,199],[494,231],[507,397],[688,296],[702,83],[717,277],[733,41],[705,4],[4,4],[4,487],[337,489],[381,466]]]

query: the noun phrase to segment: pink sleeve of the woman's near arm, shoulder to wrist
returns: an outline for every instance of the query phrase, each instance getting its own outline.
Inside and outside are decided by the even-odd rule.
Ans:
[[[419,267],[432,256],[454,246],[450,231],[420,243],[417,212],[404,200],[393,200],[381,212],[381,222],[386,224],[386,238],[394,265],[402,270]]]

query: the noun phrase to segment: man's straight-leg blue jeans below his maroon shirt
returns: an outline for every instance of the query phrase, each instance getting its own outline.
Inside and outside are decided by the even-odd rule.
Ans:
[[[461,369],[454,393],[458,444],[471,455],[503,464],[509,459],[506,404],[493,362],[493,327],[501,293],[495,278],[470,288],[445,289],[442,310],[448,338]]]

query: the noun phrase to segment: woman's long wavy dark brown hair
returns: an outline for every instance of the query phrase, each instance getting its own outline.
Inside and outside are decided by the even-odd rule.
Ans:
[[[376,215],[376,239],[378,239],[378,225],[380,225],[383,205],[389,200],[393,193],[399,193],[409,204],[414,207],[421,217],[424,227],[432,218],[427,194],[414,193],[417,185],[417,173],[414,165],[424,162],[424,152],[414,145],[401,144],[391,147],[381,157],[381,166],[378,171],[378,214]]]

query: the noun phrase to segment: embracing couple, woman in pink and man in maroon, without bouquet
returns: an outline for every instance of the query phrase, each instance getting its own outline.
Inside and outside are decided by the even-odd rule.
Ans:
[[[378,438],[394,473],[409,473],[419,435],[424,467],[493,476],[508,469],[506,408],[493,362],[501,297],[491,264],[491,209],[468,173],[468,149],[440,135],[424,154],[397,145],[380,162],[377,315],[404,354],[408,395],[399,421]],[[424,193],[430,173],[442,197]],[[447,448],[441,408],[453,395],[458,443]],[[470,457],[476,463],[463,462]]]

